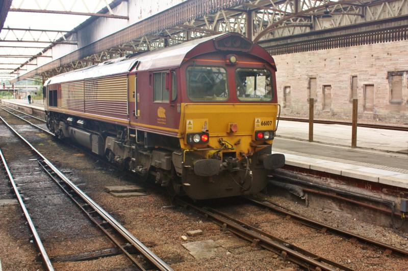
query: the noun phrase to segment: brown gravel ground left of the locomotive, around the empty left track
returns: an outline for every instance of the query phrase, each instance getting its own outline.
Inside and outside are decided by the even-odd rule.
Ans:
[[[0,115],[7,114],[0,112]],[[202,218],[193,212],[181,208],[164,207],[170,205],[170,201],[160,187],[147,185],[147,195],[138,197],[116,198],[108,194],[104,189],[105,186],[134,184],[136,178],[106,168],[105,164],[100,163],[94,157],[34,130],[15,117],[8,117],[7,121],[17,124],[14,128],[18,128],[18,131],[21,131],[22,135],[27,137],[43,155],[174,269],[189,271],[275,270],[296,267],[292,263],[282,261],[271,252],[252,248],[249,243],[239,247],[217,248],[217,253],[211,258],[196,260],[182,244],[236,237],[231,233],[220,231],[220,228],[212,222],[201,221]],[[0,129],[6,128],[0,126]],[[21,144],[18,140],[14,141],[16,141],[13,143],[15,146]],[[60,212],[56,214],[62,220],[66,217],[72,220],[72,217],[81,216],[78,214],[78,209],[73,212],[66,212],[65,208],[65,205],[60,206]],[[52,256],[70,255],[80,253],[79,248],[83,249],[81,252],[102,249],[103,244],[98,243],[97,233],[95,235],[87,234],[84,237],[83,229],[79,225],[76,226],[77,229],[75,230],[68,227],[72,226],[70,225],[72,223],[68,223],[64,229],[59,229],[59,232],[47,235],[48,238],[45,237],[43,242],[46,244],[49,254]],[[86,221],[82,220],[82,223],[86,223]],[[203,234],[194,237],[189,236],[187,241],[181,238],[182,235],[187,235],[187,231],[195,229],[201,229]],[[66,238],[54,238],[53,236],[59,236],[55,235],[57,233]],[[92,239],[92,236],[96,236],[96,240]],[[53,242],[54,239],[58,239],[58,242]],[[74,247],[75,249],[73,249]],[[110,247],[109,244],[105,244],[103,248]],[[123,265],[123,261],[123,256],[114,256],[93,261],[61,262],[55,263],[55,265],[59,270],[127,269],[128,266]]]

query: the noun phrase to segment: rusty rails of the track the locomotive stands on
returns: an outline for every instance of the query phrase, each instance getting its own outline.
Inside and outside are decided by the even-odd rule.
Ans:
[[[2,108],[4,109],[4,108]],[[13,114],[12,112],[4,109],[5,111],[9,112],[10,114]],[[13,109],[15,110],[15,109]],[[16,110],[18,111],[18,110]],[[20,112],[23,113],[23,112]],[[28,115],[31,116],[29,114],[25,114],[24,115]],[[38,129],[55,136],[53,133],[50,133],[48,130],[45,130],[39,126],[36,126],[35,124],[32,124],[31,122],[29,122],[27,119],[18,116],[16,114],[13,114],[17,117],[19,117],[20,119],[22,119],[25,122],[30,123],[31,125],[37,127]],[[44,121],[43,121],[44,122]],[[329,233],[333,233],[336,235],[340,235],[343,237],[346,237],[350,240],[351,243],[355,243],[355,242],[360,242],[366,245],[370,245],[376,249],[380,249],[384,254],[386,255],[390,255],[390,254],[395,254],[398,256],[402,256],[402,257],[407,257],[408,256],[408,252],[396,247],[392,247],[389,246],[387,244],[381,243],[381,242],[377,242],[373,239],[364,237],[364,236],[360,236],[360,235],[356,235],[335,227],[331,227],[329,225],[326,224],[322,224],[319,223],[317,221],[313,221],[310,220],[308,218],[302,217],[298,214],[295,214],[293,212],[291,212],[290,210],[285,210],[284,208],[280,208],[280,207],[276,207],[273,205],[272,202],[269,201],[265,201],[265,200],[260,200],[260,199],[254,199],[254,198],[245,198],[246,200],[248,200],[248,202],[258,205],[258,206],[262,206],[262,207],[266,207],[269,210],[272,210],[274,213],[285,217],[285,218],[290,218],[295,220],[296,222],[317,229],[321,232],[329,232]],[[308,251],[305,251],[301,248],[298,248],[294,245],[288,244],[287,242],[285,242],[284,240],[281,240],[277,237],[274,237],[266,232],[260,231],[257,228],[254,228],[248,224],[245,224],[239,220],[236,220],[232,217],[228,217],[225,214],[222,214],[220,212],[217,212],[214,209],[211,208],[200,208],[198,206],[194,206],[191,203],[187,203],[185,201],[180,201],[180,199],[177,199],[177,203],[179,203],[182,206],[189,206],[192,209],[196,210],[197,213],[201,213],[203,216],[207,217],[207,218],[212,218],[212,220],[214,222],[216,222],[218,225],[220,225],[221,227],[228,229],[230,231],[232,231],[233,233],[237,234],[238,236],[249,240],[250,242],[252,242],[253,244],[256,245],[260,245],[261,247],[268,249],[270,251],[273,251],[285,258],[287,258],[288,260],[293,261],[296,264],[299,264],[300,266],[304,267],[304,268],[314,268],[316,270],[331,270],[330,268],[335,267],[336,270],[338,270],[338,268],[342,269],[342,270],[352,270],[346,266],[343,266],[339,263],[330,261],[328,259],[324,259],[322,257],[319,257],[313,253],[310,253]],[[211,214],[210,214],[211,213]],[[228,224],[228,223],[231,224]],[[244,232],[243,232],[244,231]],[[250,234],[248,234],[248,231]],[[254,234],[255,233],[255,234]],[[262,241],[262,242],[261,242]],[[279,246],[280,244],[280,246]],[[288,249],[289,250],[283,250],[283,249]],[[312,261],[310,261],[312,259]],[[321,266],[320,266],[321,265]]]

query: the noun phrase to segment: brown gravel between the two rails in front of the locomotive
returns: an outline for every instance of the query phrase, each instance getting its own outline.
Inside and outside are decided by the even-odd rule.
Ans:
[[[235,204],[217,209],[288,243],[354,270],[406,270],[406,259],[393,255],[385,256],[377,249],[351,244],[340,236],[321,233],[259,206]]]

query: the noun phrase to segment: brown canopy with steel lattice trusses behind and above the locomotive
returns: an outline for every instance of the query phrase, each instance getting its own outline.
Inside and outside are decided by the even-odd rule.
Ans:
[[[299,46],[310,42],[315,38],[313,35],[323,35],[322,38],[329,40],[344,29],[347,32],[343,35],[351,35],[348,33],[354,30],[363,33],[375,28],[379,31],[401,22],[405,25],[408,22],[408,0],[189,0],[68,53],[14,81],[34,75],[50,77],[111,58],[217,33],[238,32],[269,48],[275,44],[289,46],[285,43],[294,38],[298,39],[296,46]],[[385,30],[384,33],[388,35],[389,32]],[[405,32],[401,33],[398,37],[406,39]],[[379,39],[378,42],[389,40],[392,39]],[[339,40],[339,44],[343,41]],[[313,46],[310,48],[320,48]],[[271,49],[270,52],[284,51],[279,50]]]

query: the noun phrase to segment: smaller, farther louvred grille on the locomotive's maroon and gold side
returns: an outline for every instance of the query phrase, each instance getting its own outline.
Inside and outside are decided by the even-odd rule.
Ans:
[[[61,108],[84,112],[84,82],[61,84]]]

